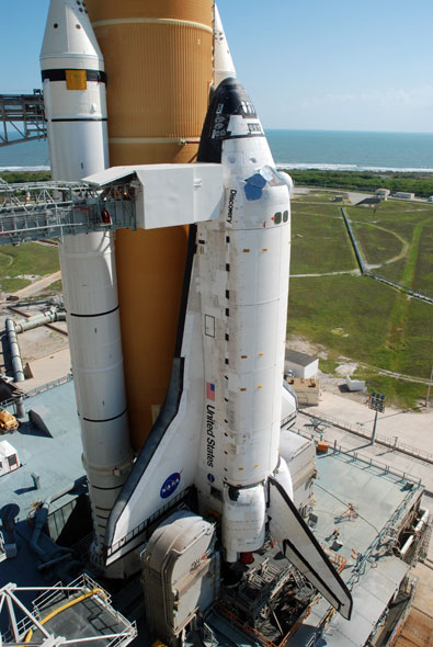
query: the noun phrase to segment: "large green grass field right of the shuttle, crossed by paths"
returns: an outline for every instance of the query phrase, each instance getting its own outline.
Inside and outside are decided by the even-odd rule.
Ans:
[[[426,387],[380,375],[378,370],[429,378],[433,306],[368,276],[296,277],[356,268],[339,216],[341,205],[329,197],[320,200],[293,201],[288,339],[300,336],[324,347],[328,357],[320,367],[326,372],[333,373],[342,361],[364,364],[357,375],[371,389],[384,393],[389,402],[414,406]],[[365,260],[379,265],[375,273],[433,295],[433,207],[389,201],[375,211],[345,208]]]

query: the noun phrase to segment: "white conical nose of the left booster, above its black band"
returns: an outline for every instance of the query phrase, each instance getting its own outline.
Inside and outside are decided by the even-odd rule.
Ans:
[[[42,69],[103,69],[103,57],[83,2],[52,0],[41,50]]]

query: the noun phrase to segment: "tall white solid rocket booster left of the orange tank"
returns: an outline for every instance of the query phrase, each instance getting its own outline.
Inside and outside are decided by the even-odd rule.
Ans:
[[[53,179],[109,166],[105,71],[84,3],[52,0],[41,53]],[[130,470],[116,268],[111,234],[59,246],[73,382],[98,543]]]

